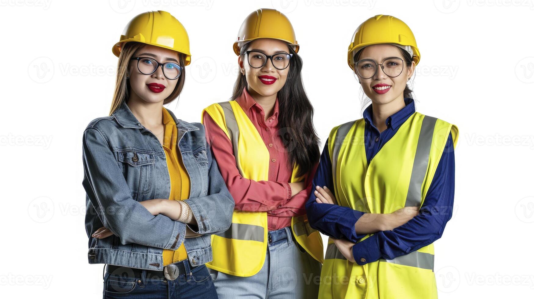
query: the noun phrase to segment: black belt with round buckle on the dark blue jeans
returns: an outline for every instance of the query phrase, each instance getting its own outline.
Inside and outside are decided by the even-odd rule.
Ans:
[[[184,261],[179,261],[174,264],[168,264],[166,266],[163,266],[163,271],[161,270],[145,270],[146,271],[146,279],[168,279],[168,280],[175,280],[178,278],[178,276],[185,274],[185,266],[184,263],[189,263],[187,259],[184,259]],[[190,269],[194,269],[195,267],[192,267],[191,265]],[[138,269],[138,268],[132,268],[132,267],[124,267],[124,266],[116,266],[116,265],[108,265],[106,264],[106,272],[118,276],[126,276],[126,277],[135,277],[138,279],[141,279],[142,272],[144,269]]]

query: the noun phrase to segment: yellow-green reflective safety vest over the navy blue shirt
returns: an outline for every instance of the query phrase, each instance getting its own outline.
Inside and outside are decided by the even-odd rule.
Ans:
[[[456,147],[456,125],[415,112],[368,165],[364,130],[365,121],[359,119],[335,127],[329,135],[337,203],[381,214],[421,207],[449,132]],[[360,266],[347,261],[329,239],[319,298],[437,298],[434,245]]]

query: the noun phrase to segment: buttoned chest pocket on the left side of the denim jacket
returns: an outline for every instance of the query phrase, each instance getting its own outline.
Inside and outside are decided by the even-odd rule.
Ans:
[[[132,191],[132,198],[138,200],[139,195],[148,194],[153,181],[154,154],[125,148],[117,152],[117,158],[122,163],[122,173]]]

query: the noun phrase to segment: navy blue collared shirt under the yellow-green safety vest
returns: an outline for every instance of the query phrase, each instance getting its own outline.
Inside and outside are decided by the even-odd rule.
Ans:
[[[382,146],[395,135],[414,112],[413,99],[404,99],[405,107],[386,120],[387,129],[380,132],[373,124],[373,107],[368,106],[364,113],[365,120],[365,154],[367,164],[380,151]],[[328,140],[321,154],[319,166],[313,177],[312,190],[316,186],[327,186],[332,192],[332,162],[328,153]],[[335,194],[334,194],[335,195]],[[436,173],[432,179],[425,201],[419,215],[404,225],[391,231],[381,231],[357,243],[366,234],[356,233],[355,224],[365,213],[337,204],[317,203],[312,192],[306,203],[306,211],[311,227],[335,239],[347,239],[356,243],[352,253],[356,263],[364,265],[379,258],[393,259],[425,247],[441,238],[445,224],[452,216],[454,199],[454,147],[452,135],[449,134],[445,149],[439,160]],[[364,258],[365,262],[361,262]]]

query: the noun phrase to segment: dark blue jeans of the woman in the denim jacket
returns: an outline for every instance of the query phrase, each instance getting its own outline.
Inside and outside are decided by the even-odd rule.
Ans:
[[[187,274],[175,280],[147,277],[146,270],[142,271],[141,278],[105,272],[103,298],[218,298],[206,265],[191,267],[187,260],[183,263]]]

